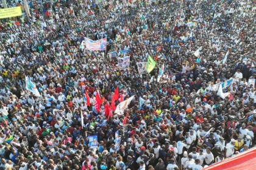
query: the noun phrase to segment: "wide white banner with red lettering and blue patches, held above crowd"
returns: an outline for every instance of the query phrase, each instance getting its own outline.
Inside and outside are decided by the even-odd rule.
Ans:
[[[93,41],[89,38],[85,38],[85,47],[91,51],[104,51],[107,48],[107,38]]]

